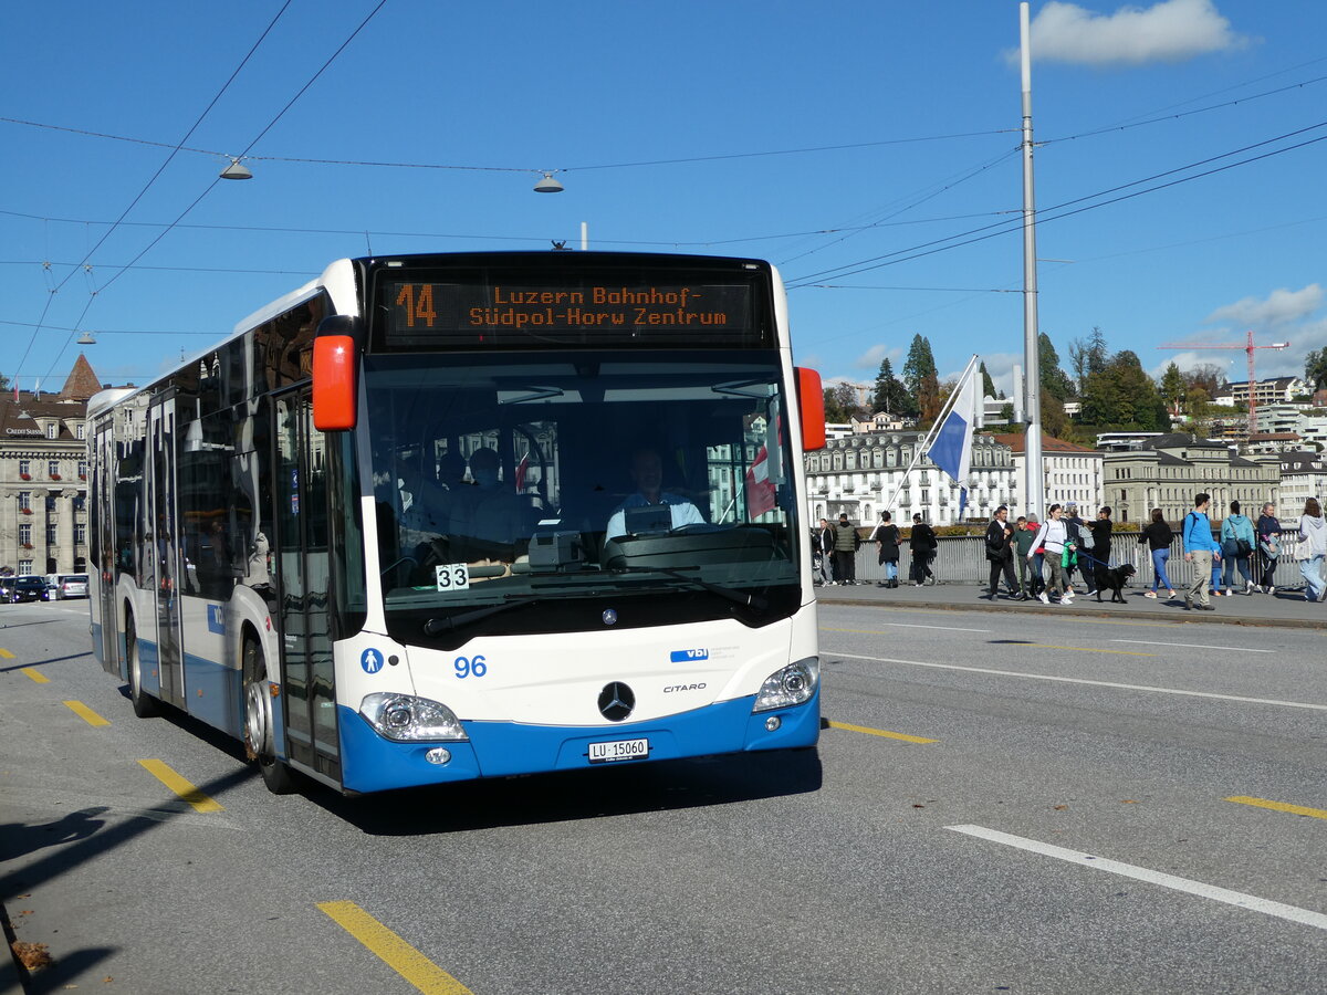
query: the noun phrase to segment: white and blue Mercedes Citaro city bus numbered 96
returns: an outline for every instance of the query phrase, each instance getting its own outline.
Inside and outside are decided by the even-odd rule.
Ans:
[[[813,748],[787,328],[752,259],[334,261],[89,402],[96,655],[277,793]]]

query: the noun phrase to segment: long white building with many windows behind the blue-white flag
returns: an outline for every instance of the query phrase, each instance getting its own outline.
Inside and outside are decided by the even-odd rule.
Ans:
[[[959,513],[959,488],[925,455],[908,471],[925,432],[865,432],[829,439],[805,455],[807,512],[812,521],[840,512],[859,524],[873,524],[888,511],[898,524],[920,513],[932,525],[987,519],[1001,504],[1016,508],[1014,458],[990,435],[973,436],[967,504]],[[1018,512],[1014,511],[1016,515]]]

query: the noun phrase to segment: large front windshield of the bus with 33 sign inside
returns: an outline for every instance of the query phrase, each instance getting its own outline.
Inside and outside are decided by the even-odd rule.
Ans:
[[[776,350],[377,354],[364,382],[395,638],[796,609]]]

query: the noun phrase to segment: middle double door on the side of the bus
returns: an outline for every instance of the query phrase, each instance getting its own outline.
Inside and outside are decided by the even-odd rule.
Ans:
[[[180,650],[179,505],[175,495],[175,398],[154,403],[147,413],[147,448],[151,454],[151,540],[143,553],[151,565],[157,597],[157,662],[161,698],[184,707],[184,667]]]

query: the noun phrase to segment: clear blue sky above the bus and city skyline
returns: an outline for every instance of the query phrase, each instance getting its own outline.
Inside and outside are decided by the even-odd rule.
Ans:
[[[942,374],[978,352],[1009,387],[1015,0],[386,0],[345,44],[377,3],[13,7],[0,373],[57,390],[92,330],[101,378],[141,383],[340,256],[577,245],[584,222],[592,248],[770,259],[827,379],[901,366],[921,333]],[[1031,12],[1040,328],[1064,364],[1096,325],[1149,370],[1242,379],[1238,352],[1156,346],[1253,329],[1291,342],[1259,375],[1302,371],[1327,345],[1327,4]],[[242,154],[255,179],[214,184]],[[532,192],[543,170],[565,192]]]

